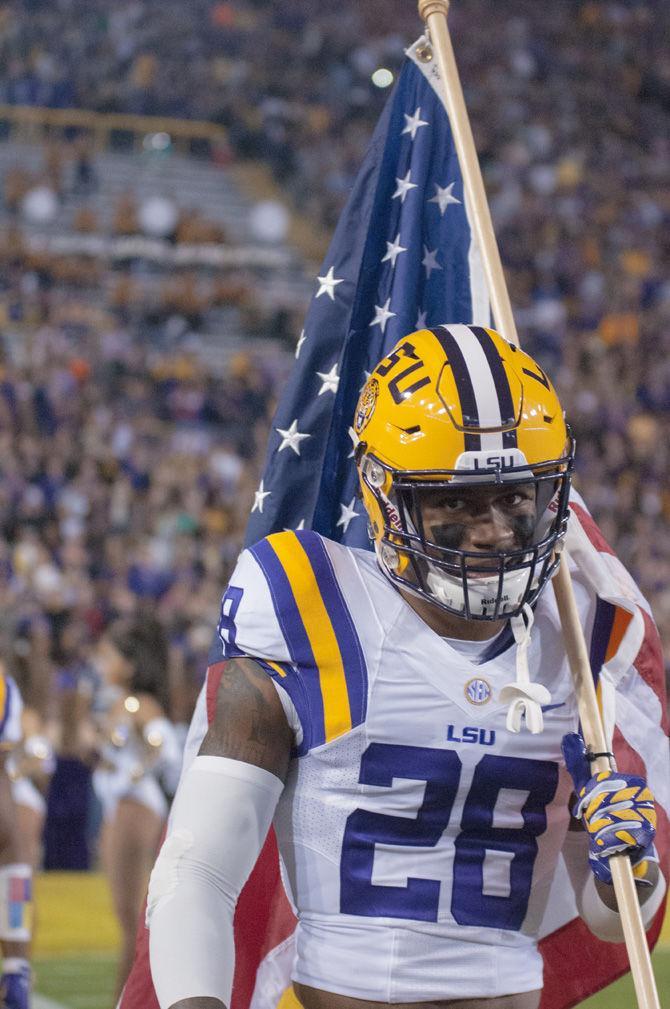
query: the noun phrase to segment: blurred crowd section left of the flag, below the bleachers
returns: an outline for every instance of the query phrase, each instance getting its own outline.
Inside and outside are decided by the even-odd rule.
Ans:
[[[142,345],[110,307],[23,289],[0,296],[32,317],[28,345],[6,343],[0,363],[3,622],[20,654],[46,629],[57,685],[138,606],[191,668],[238,549],[272,375],[243,354],[206,374]],[[42,708],[40,678],[21,679]]]

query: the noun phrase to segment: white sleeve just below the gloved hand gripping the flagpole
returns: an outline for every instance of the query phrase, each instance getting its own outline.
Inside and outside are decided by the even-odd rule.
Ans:
[[[623,942],[621,915],[602,903],[595,888],[595,879],[588,865],[588,837],[585,831],[568,830],[563,843],[563,861],[574,890],[579,916],[583,918],[589,931],[604,942]],[[659,872],[653,892],[640,907],[646,929],[654,920],[665,891],[665,878]]]

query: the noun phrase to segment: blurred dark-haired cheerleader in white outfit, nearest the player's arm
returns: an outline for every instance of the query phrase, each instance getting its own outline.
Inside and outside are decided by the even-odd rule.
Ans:
[[[103,808],[101,857],[122,947],[115,1001],[132,964],[148,877],[177,788],[182,742],[170,721],[167,642],[150,619],[113,625],[100,640],[102,743],[93,785]]]

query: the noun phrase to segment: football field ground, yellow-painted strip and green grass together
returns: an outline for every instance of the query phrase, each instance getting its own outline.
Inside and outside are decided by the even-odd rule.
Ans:
[[[36,880],[33,1009],[113,1009],[118,930],[102,877],[44,873]],[[670,915],[652,958],[662,1006],[670,1006]],[[630,977],[581,1003],[634,1009]]]

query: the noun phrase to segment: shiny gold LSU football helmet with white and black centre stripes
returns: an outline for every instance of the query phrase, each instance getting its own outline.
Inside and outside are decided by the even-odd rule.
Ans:
[[[574,441],[542,368],[479,326],[420,330],[366,382],[353,421],[370,537],[382,571],[467,620],[533,603],[558,563]],[[440,545],[424,530],[427,494],[463,484],[535,485],[535,519],[507,551]]]

